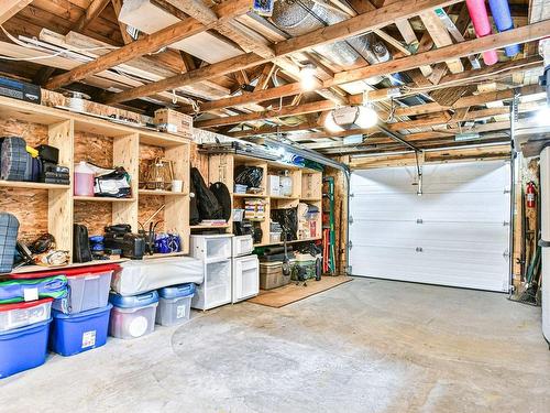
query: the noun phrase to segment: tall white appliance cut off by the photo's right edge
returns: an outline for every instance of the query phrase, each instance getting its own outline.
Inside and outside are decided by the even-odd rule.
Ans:
[[[542,246],[542,334],[550,343],[550,148],[540,152],[540,216]]]

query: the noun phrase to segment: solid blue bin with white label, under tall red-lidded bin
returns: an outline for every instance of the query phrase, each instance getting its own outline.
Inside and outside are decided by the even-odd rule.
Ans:
[[[50,348],[62,356],[74,356],[107,343],[112,305],[78,314],[53,311]]]

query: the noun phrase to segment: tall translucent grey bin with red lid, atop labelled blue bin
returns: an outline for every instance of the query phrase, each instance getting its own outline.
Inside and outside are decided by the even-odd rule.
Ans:
[[[105,307],[109,302],[111,276],[110,269],[67,271],[68,295],[66,298],[56,300],[54,309],[77,314]]]

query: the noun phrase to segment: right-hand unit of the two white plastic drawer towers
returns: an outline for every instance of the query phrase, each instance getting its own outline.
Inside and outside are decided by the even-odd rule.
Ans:
[[[233,237],[231,302],[238,303],[260,293],[260,261],[252,254],[252,236]]]

